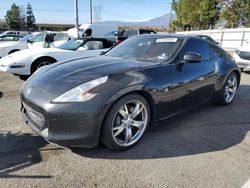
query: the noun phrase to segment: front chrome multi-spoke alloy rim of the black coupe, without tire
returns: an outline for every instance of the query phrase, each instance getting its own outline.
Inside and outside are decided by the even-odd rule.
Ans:
[[[131,100],[117,111],[112,125],[112,137],[120,146],[130,146],[143,135],[148,123],[148,111],[138,100]]]

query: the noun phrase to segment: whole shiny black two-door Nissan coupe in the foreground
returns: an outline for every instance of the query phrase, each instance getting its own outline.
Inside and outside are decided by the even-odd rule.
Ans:
[[[208,101],[230,104],[239,83],[234,60],[209,41],[135,36],[102,56],[39,69],[21,90],[21,111],[52,143],[123,150],[150,122]]]

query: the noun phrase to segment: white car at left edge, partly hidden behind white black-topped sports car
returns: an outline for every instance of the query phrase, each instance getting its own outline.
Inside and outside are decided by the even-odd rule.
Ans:
[[[33,33],[19,39],[19,41],[0,43],[0,58],[17,51],[27,49],[27,40],[31,39],[35,35],[36,33]]]

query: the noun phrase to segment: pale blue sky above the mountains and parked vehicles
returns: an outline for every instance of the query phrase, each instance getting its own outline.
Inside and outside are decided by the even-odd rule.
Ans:
[[[170,12],[171,0],[92,0],[93,7],[101,6],[102,21],[144,21]],[[33,7],[37,23],[74,23],[74,0],[0,0],[0,19],[16,3]],[[90,22],[89,0],[78,0],[80,23]],[[93,18],[95,13],[93,12]]]

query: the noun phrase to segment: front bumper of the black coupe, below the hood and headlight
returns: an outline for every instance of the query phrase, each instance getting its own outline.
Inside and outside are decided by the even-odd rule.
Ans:
[[[50,102],[53,98],[34,88],[29,94],[21,92],[21,112],[28,126],[44,139],[60,146],[97,146],[103,118],[98,113],[98,106],[84,103],[53,104]],[[44,119],[44,122],[39,118]]]

